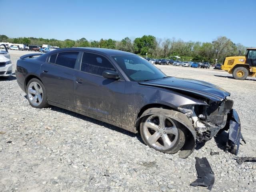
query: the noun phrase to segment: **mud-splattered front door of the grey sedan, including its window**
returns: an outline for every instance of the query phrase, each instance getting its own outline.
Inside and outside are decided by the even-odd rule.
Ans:
[[[102,55],[84,52],[81,69],[75,73],[75,108],[114,122],[122,122],[125,81],[103,78],[105,70],[116,70]]]

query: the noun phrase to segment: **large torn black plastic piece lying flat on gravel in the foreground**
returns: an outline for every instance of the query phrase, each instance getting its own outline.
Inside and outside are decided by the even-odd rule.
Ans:
[[[206,159],[206,157],[203,157],[202,159],[196,158],[196,171],[198,174],[197,180],[192,182],[191,186],[204,186],[207,187],[208,190],[212,189],[212,186],[214,184],[214,172],[212,171],[212,168]]]

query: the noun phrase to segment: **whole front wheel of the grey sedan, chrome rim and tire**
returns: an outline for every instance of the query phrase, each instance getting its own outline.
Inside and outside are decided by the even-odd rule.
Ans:
[[[178,152],[185,143],[182,125],[161,114],[142,118],[140,135],[143,142],[149,147],[170,154]]]

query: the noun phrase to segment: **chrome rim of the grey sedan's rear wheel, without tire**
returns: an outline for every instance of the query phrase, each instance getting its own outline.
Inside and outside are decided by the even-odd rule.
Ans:
[[[28,99],[30,100],[30,102],[35,105],[38,106],[42,103],[43,100],[43,90],[42,87],[40,86],[40,84],[38,84],[38,82],[32,81],[29,85],[28,85]]]

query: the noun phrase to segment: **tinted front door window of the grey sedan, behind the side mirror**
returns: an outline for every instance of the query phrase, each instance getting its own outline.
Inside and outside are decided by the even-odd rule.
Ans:
[[[115,71],[115,68],[105,57],[91,53],[83,54],[81,71],[102,76],[106,70]]]

